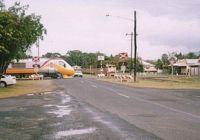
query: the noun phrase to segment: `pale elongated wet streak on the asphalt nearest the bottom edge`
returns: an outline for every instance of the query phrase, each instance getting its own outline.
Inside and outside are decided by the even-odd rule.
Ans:
[[[62,137],[73,136],[73,135],[81,135],[81,134],[89,134],[96,131],[96,128],[87,128],[87,129],[79,129],[79,130],[68,130],[68,131],[60,131],[56,133],[55,138],[60,139]]]

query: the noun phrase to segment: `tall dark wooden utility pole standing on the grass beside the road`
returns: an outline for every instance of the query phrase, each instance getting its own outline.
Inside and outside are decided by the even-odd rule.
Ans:
[[[136,82],[137,76],[137,31],[136,31],[136,11],[134,11],[134,82]]]

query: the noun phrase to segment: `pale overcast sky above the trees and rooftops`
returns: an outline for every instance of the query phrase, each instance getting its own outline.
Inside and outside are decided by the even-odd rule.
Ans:
[[[200,51],[200,0],[18,0],[28,13],[41,15],[47,35],[40,55],[69,50],[131,54],[134,11],[137,55],[158,59],[163,53]],[[5,0],[7,6],[15,0]],[[109,14],[111,16],[107,17]],[[37,55],[32,46],[31,55]]]

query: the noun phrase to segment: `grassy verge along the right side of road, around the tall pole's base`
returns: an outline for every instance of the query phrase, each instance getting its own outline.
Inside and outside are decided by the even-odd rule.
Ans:
[[[94,76],[87,76],[93,77]],[[200,77],[140,77],[137,82],[121,82],[119,79],[98,78],[99,80],[131,87],[158,88],[158,89],[200,89]]]

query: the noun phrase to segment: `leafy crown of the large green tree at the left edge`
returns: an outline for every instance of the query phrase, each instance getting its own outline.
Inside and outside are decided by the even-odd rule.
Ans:
[[[19,60],[30,47],[46,34],[40,23],[40,16],[27,15],[28,5],[14,6],[6,9],[0,0],[0,73],[4,73],[9,63]]]

